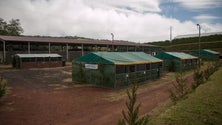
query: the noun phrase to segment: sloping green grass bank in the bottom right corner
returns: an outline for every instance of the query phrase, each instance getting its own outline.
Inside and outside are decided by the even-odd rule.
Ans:
[[[222,68],[210,80],[165,112],[153,118],[149,125],[221,125]]]

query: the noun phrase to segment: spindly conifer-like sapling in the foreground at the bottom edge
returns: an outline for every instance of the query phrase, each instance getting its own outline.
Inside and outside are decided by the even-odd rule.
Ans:
[[[127,113],[125,111],[122,111],[123,114],[123,119],[119,120],[118,125],[146,125],[148,124],[149,118],[148,116],[144,116],[142,118],[139,118],[139,108],[140,104],[135,106],[136,104],[136,91],[137,91],[137,86],[133,84],[131,90],[127,90],[127,95],[129,101],[126,102],[127,106]]]

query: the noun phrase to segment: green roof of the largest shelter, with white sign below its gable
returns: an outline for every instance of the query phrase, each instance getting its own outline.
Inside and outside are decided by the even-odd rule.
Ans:
[[[162,62],[162,60],[144,52],[92,52],[77,58],[75,61],[116,65]]]

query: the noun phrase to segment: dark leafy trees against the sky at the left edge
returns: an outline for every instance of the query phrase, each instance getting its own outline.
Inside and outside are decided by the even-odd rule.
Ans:
[[[0,35],[19,36],[23,33],[19,19],[11,19],[9,23],[0,18]]]

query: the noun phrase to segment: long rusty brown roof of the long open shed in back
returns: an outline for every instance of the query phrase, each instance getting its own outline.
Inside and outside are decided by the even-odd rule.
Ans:
[[[134,43],[129,41],[109,41],[109,40],[87,40],[87,39],[72,39],[58,37],[34,37],[34,36],[1,36],[3,41],[17,42],[46,42],[46,43],[73,43],[73,44],[90,44],[90,45],[127,45],[127,46],[153,46],[151,44]],[[156,46],[157,47],[157,46]]]

